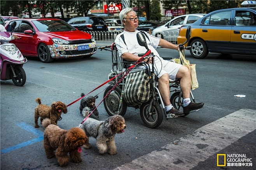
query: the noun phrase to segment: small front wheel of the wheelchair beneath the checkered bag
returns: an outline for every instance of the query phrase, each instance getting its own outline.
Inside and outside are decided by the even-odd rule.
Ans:
[[[140,106],[140,118],[147,127],[157,128],[163,121],[162,109],[158,102],[155,101],[149,110],[149,102],[143,103]]]

